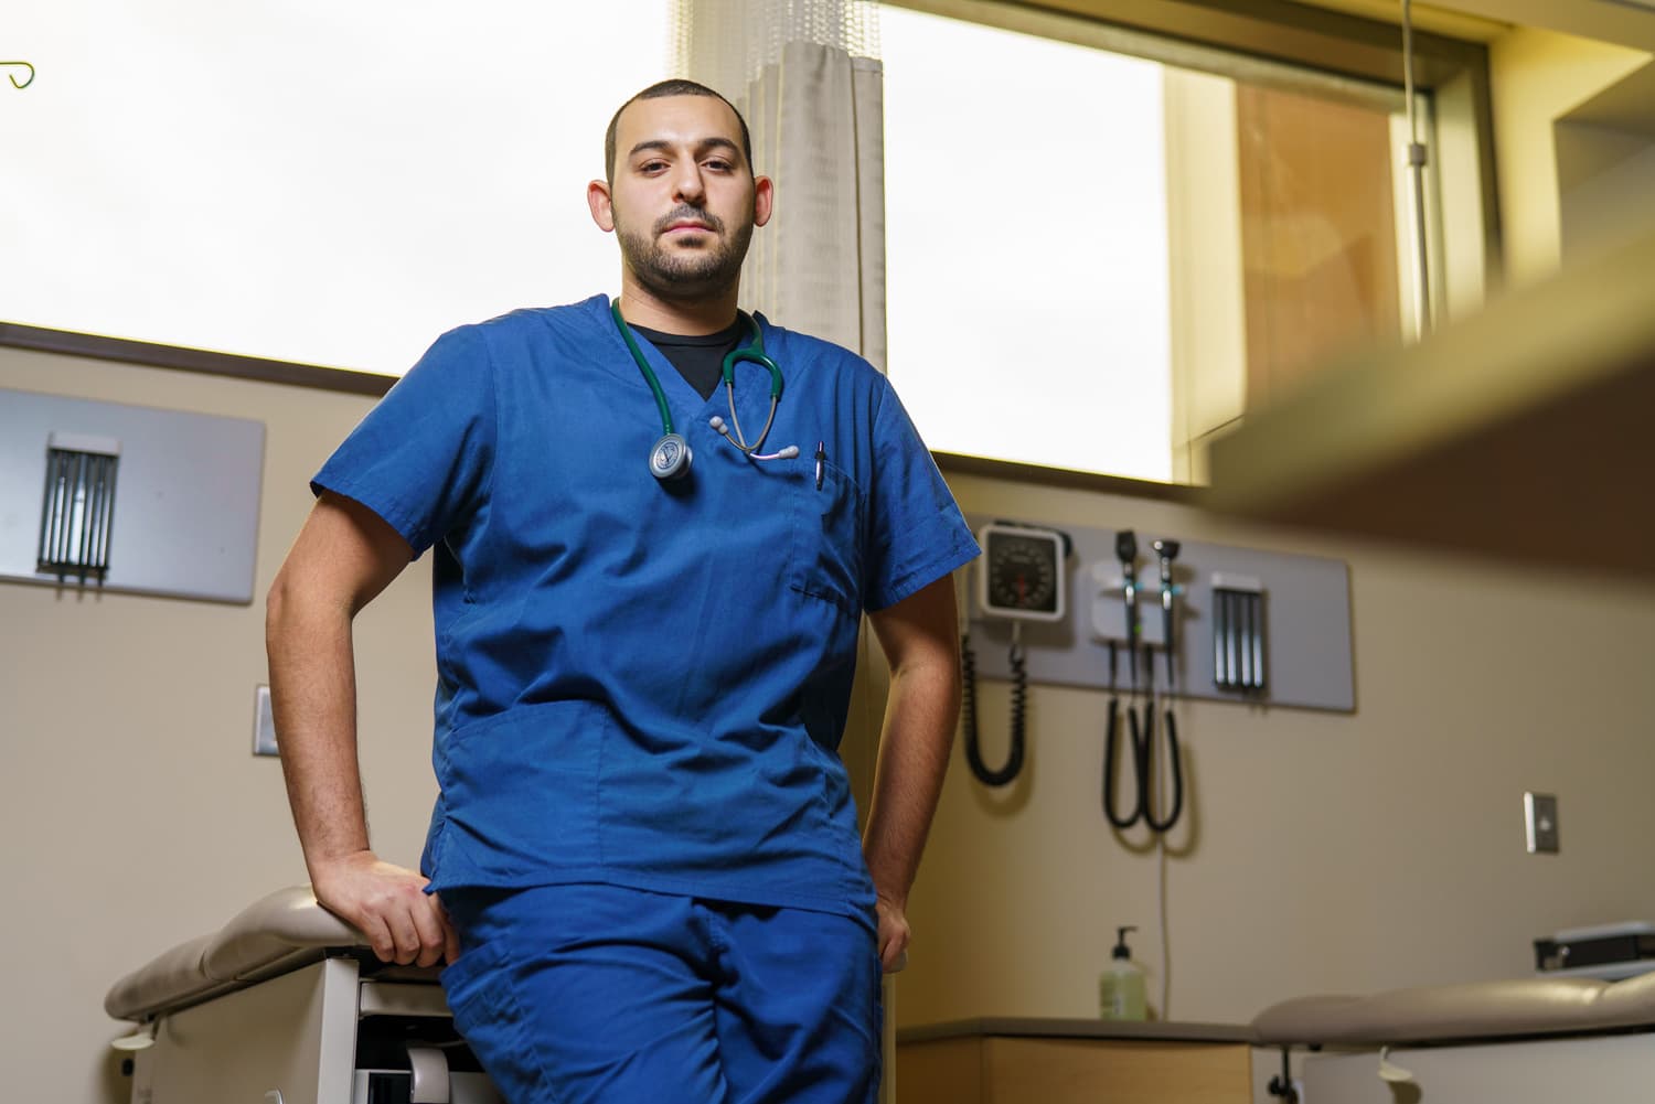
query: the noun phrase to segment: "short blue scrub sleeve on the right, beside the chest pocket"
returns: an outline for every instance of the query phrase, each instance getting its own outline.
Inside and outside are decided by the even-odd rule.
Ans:
[[[937,462],[890,384],[880,379],[869,492],[867,609],[885,609],[978,554]]]

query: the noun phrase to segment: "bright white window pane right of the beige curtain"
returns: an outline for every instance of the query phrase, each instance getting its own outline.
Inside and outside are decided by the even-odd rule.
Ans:
[[[892,7],[879,31],[889,371],[927,444],[1168,478],[1160,66]]]

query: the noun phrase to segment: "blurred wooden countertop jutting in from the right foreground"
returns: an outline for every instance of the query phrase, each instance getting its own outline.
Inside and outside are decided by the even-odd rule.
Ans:
[[[1655,579],[1655,227],[1251,412],[1208,505]]]

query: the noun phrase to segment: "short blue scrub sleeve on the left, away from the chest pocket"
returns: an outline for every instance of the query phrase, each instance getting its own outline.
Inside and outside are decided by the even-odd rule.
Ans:
[[[353,498],[419,556],[463,525],[488,490],[495,387],[475,326],[445,333],[351,430],[311,490]]]

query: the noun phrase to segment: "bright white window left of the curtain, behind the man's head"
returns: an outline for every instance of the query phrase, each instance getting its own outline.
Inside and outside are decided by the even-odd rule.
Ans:
[[[0,318],[401,374],[612,273],[588,215],[667,5],[8,0]]]

